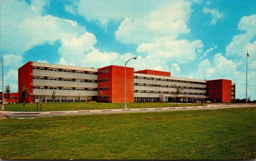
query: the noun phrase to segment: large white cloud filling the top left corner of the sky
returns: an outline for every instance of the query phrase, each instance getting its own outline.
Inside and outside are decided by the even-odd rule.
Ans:
[[[42,16],[45,1],[3,1],[1,8],[1,49],[18,55],[42,45],[52,44],[56,40],[71,39],[85,32],[83,26],[75,21],[52,15]],[[3,41],[4,39],[4,41]]]

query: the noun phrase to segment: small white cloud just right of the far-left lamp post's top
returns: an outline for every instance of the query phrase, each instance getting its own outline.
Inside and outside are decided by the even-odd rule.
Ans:
[[[21,67],[23,59],[21,55],[6,54],[3,58],[4,66]]]

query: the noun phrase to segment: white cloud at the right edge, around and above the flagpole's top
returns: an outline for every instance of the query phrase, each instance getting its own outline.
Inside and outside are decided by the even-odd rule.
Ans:
[[[246,51],[250,54],[251,60],[255,60],[256,57],[256,41],[251,42],[256,36],[256,14],[249,17],[244,16],[241,18],[238,29],[245,31],[245,33],[235,35],[232,42],[226,48],[226,55],[240,56],[243,60],[246,58]]]

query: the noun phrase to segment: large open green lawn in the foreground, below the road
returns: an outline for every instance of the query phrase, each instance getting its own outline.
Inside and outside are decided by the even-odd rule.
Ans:
[[[256,159],[256,108],[0,120],[1,159]]]

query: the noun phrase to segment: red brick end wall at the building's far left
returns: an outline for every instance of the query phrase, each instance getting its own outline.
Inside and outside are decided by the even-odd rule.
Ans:
[[[33,102],[33,77],[32,77],[33,69],[32,69],[32,61],[29,61],[22,67],[18,69],[18,88],[19,88],[19,102],[23,102],[21,93],[22,88],[26,86],[28,91],[30,92],[30,96],[25,100],[26,103]]]

